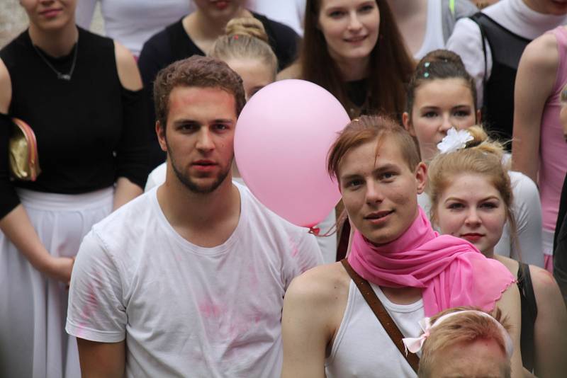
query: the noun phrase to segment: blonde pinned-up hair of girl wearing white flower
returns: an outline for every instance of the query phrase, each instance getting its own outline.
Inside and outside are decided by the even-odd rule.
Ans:
[[[468,127],[466,131],[471,134],[473,140],[467,142],[464,149],[448,154],[437,154],[430,162],[427,172],[427,193],[431,199],[430,219],[433,224],[439,224],[437,219],[439,198],[454,176],[461,173],[478,173],[487,176],[504,201],[510,238],[519,250],[516,220],[512,212],[512,185],[508,168],[502,162],[504,147],[490,139],[480,125]]]

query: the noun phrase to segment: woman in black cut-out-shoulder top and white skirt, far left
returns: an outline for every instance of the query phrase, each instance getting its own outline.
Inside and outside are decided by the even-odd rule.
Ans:
[[[147,177],[135,60],[77,28],[75,3],[22,0],[29,28],[0,51],[0,377],[79,377],[63,329],[73,256]],[[36,181],[10,178],[12,117],[35,132]]]

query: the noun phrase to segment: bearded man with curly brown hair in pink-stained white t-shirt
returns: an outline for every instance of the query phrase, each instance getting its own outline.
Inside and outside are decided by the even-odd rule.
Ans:
[[[67,332],[91,377],[274,377],[293,277],[321,262],[314,237],[232,183],[245,104],[225,63],[159,72],[164,185],[96,224],[77,256]]]

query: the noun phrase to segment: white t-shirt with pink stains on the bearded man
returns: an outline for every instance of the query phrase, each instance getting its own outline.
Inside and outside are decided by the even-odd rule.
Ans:
[[[283,294],[320,251],[237,188],[237,227],[213,248],[177,234],[157,188],[96,224],[73,268],[67,332],[125,340],[126,377],[279,376]]]

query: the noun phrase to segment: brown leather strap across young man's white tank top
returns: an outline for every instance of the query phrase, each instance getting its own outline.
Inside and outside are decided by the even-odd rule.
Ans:
[[[359,288],[360,294],[362,294],[362,297],[364,297],[364,300],[366,300],[366,303],[368,303],[374,315],[376,315],[376,318],[378,318],[378,321],[380,321],[383,328],[386,330],[386,333],[388,333],[388,336],[390,336],[395,346],[398,347],[400,353],[402,353],[405,360],[408,361],[408,364],[410,364],[413,371],[417,374],[417,369],[420,367],[420,358],[413,353],[405,353],[405,346],[402,342],[403,335],[400,329],[395,325],[390,314],[388,314],[388,311],[386,311],[382,302],[380,302],[380,299],[376,297],[376,293],[372,290],[369,282],[364,280],[364,278],[352,269],[346,258],[343,258],[341,263]]]

